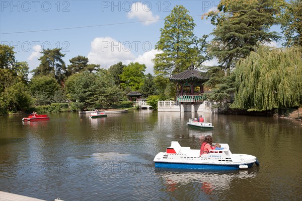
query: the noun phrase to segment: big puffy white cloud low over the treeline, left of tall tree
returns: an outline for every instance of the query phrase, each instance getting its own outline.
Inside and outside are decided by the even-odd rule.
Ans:
[[[119,61],[126,65],[130,62],[139,62],[145,64],[147,67],[144,74],[153,74],[154,63],[152,59],[155,57],[155,54],[160,52],[151,49],[135,57],[131,50],[136,51],[135,44],[129,42],[121,43],[111,37],[98,37],[91,42],[91,50],[87,57],[89,63],[100,64],[101,68],[107,69]]]

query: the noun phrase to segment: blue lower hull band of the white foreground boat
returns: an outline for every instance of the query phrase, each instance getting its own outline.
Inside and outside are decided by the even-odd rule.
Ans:
[[[252,167],[254,164],[249,163],[248,168]],[[236,170],[240,169],[239,165],[215,165],[215,164],[189,164],[189,163],[162,163],[155,162],[155,168],[158,170],[164,169],[192,169],[192,170]]]

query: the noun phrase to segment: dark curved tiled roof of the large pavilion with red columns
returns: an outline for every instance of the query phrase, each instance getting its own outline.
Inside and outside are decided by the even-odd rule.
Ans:
[[[209,80],[205,76],[205,73],[201,71],[197,71],[193,68],[190,68],[184,72],[181,72],[179,74],[174,74],[169,78],[170,81],[173,82],[185,82],[185,81],[193,81],[193,82],[205,82]]]

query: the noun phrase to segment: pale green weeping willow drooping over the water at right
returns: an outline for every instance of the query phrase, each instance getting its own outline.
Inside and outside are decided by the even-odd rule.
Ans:
[[[238,61],[232,108],[248,111],[288,108],[302,103],[302,48],[260,46]]]

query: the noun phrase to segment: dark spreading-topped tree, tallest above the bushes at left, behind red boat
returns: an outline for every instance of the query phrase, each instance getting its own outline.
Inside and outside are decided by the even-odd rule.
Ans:
[[[62,48],[43,49],[40,53],[43,55],[38,58],[40,64],[37,69],[33,70],[34,76],[53,76],[60,84],[64,79],[66,66],[62,57],[65,54],[61,53]]]

